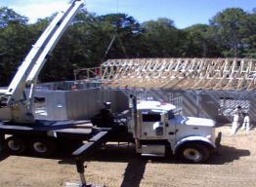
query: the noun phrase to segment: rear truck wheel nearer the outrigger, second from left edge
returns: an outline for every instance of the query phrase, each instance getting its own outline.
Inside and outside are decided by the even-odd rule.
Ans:
[[[48,157],[56,150],[56,141],[54,139],[36,138],[30,142],[32,154],[37,157]]]

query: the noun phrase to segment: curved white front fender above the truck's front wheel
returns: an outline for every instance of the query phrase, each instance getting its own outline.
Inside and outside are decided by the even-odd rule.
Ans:
[[[210,146],[213,149],[216,149],[216,145],[211,142],[209,139],[207,139],[206,137],[202,137],[202,136],[189,136],[189,137],[185,137],[183,139],[180,139],[174,146],[173,148],[173,154],[176,155],[177,151],[179,150],[179,148],[184,145],[185,143],[189,143],[189,142],[202,142],[203,144],[206,144],[208,146]]]

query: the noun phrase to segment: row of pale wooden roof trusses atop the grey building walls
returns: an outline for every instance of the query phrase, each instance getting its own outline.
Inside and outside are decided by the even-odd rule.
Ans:
[[[256,58],[108,59],[98,77],[111,88],[246,91],[256,88]]]

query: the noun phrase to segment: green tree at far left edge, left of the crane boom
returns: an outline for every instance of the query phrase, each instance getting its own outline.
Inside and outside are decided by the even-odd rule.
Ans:
[[[0,85],[10,83],[31,45],[27,20],[13,10],[0,8]]]

